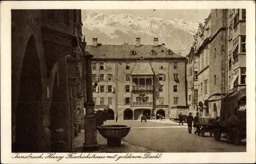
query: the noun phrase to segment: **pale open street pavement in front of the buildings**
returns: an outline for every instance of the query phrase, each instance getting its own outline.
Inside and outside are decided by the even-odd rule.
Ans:
[[[246,152],[246,140],[239,146],[228,139],[217,142],[213,137],[200,137],[189,134],[186,124],[179,125],[169,120],[123,120],[106,121],[104,125],[126,125],[131,127],[130,133],[123,138],[124,142],[157,152]]]

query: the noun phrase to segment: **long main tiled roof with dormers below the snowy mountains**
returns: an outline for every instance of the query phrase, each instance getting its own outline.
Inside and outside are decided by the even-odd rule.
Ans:
[[[135,55],[131,55],[132,51],[135,51]],[[156,55],[152,55],[151,51],[155,50]],[[86,51],[92,54],[93,59],[141,59],[143,58],[171,58],[171,59],[186,59],[182,55],[173,52],[172,55],[168,55],[167,49],[163,45],[153,46],[153,45],[113,45],[113,44],[103,44],[98,46],[86,45]]]

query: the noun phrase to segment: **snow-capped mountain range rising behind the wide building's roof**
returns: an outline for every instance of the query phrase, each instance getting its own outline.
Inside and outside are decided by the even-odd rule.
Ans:
[[[135,44],[135,38],[141,38],[141,44],[153,44],[158,37],[159,44],[167,48],[188,50],[197,32],[198,22],[182,19],[166,20],[158,17],[134,16],[130,13],[119,15],[82,11],[82,33],[88,44],[97,37],[102,44]],[[180,51],[186,55],[188,51]]]

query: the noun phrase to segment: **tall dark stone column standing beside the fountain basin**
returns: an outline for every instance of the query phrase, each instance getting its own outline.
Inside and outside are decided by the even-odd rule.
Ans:
[[[93,87],[92,87],[92,57],[84,55],[86,58],[86,114],[84,115],[84,143],[83,150],[98,150],[96,118],[94,116]]]

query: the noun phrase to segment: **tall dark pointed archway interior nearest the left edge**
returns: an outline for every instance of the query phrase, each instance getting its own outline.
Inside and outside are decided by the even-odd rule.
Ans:
[[[31,36],[20,74],[14,152],[36,152],[38,150],[42,95],[39,65],[35,41]]]

